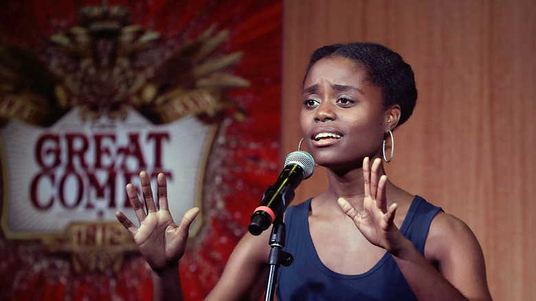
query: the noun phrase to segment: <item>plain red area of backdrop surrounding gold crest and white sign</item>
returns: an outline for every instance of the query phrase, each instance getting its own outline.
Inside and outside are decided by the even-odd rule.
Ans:
[[[56,32],[78,24],[77,10],[100,1],[17,1],[0,12],[0,34],[19,47],[43,51]],[[243,52],[232,74],[251,82],[231,92],[242,121],[226,119],[210,153],[204,182],[205,223],[181,261],[187,300],[203,300],[218,280],[234,245],[247,231],[267,184],[280,171],[280,1],[108,1],[124,5],[131,23],[184,41],[210,25],[230,30],[228,53]],[[172,200],[172,196],[170,196]],[[179,216],[175,216],[176,219]],[[118,273],[76,273],[68,254],[51,256],[38,241],[0,238],[1,300],[149,300],[150,270],[139,254],[126,254]]]

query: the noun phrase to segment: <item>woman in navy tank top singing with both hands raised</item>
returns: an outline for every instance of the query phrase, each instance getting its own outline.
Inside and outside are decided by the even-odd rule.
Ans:
[[[416,102],[409,65],[372,43],[331,45],[311,56],[303,82],[304,144],[328,172],[328,189],[285,214],[290,267],[279,269],[278,300],[491,300],[484,258],[469,227],[391,183],[385,140]],[[392,149],[392,147],[391,147]],[[140,223],[126,227],[153,268],[155,299],[181,300],[177,261],[188,227],[167,211],[166,180],[158,177],[160,210],[140,174],[147,214],[131,184],[126,190]],[[246,234],[207,300],[258,300],[265,288],[270,232]]]

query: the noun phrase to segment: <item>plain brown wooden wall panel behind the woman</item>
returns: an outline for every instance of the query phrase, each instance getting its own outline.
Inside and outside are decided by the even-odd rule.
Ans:
[[[536,296],[536,2],[284,2],[282,148],[301,138],[309,55],[322,45],[382,43],[412,65],[414,115],[394,132],[390,179],[465,221],[495,300]],[[326,188],[322,168],[295,201]]]

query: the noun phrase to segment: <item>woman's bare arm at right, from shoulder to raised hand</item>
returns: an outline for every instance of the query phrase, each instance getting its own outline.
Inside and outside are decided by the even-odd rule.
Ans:
[[[339,206],[370,243],[383,247],[399,265],[418,300],[491,300],[482,249],[469,227],[454,216],[438,213],[432,220],[425,256],[394,225],[397,204],[387,208],[385,175],[379,176],[379,159],[364,160],[364,210],[357,212],[345,199]]]

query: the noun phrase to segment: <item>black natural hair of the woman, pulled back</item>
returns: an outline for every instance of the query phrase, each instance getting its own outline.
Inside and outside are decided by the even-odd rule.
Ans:
[[[412,67],[402,57],[386,46],[376,43],[333,44],[313,52],[305,71],[304,81],[311,67],[322,58],[341,57],[353,60],[364,67],[367,80],[383,90],[383,104],[390,107],[399,104],[403,124],[413,113],[417,100],[417,88]]]

